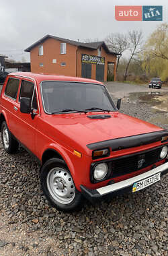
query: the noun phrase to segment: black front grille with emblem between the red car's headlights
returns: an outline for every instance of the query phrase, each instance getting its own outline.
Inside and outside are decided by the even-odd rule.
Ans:
[[[119,158],[110,162],[110,169],[112,174],[110,178],[122,176],[130,172],[135,172],[151,164],[159,162],[161,154],[161,148],[150,150],[149,152],[140,152],[140,154],[134,156],[128,156],[126,158]]]

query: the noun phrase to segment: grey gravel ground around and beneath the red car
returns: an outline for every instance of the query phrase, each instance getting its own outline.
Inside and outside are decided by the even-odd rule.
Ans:
[[[124,100],[121,112],[151,118],[148,104]],[[0,144],[0,159],[0,255],[168,255],[168,176],[65,214],[48,205],[32,156],[22,148],[9,156]]]

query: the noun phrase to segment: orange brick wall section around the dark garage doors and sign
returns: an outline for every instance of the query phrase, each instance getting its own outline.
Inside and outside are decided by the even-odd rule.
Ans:
[[[89,54],[97,56],[97,50],[89,50],[89,49],[78,49],[77,50],[77,76],[81,77],[81,55]],[[105,57],[105,66],[104,66],[104,81],[107,81],[108,76],[108,62],[114,62],[114,81],[116,81],[116,56],[106,53],[106,51],[101,47],[101,56]],[[91,65],[91,78],[95,79],[96,74],[96,65]]]

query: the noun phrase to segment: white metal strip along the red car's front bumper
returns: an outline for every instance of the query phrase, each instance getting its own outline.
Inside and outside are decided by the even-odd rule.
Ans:
[[[146,179],[154,174],[157,174],[158,172],[163,172],[164,170],[167,170],[168,168],[168,162],[166,162],[165,164],[162,164],[156,168],[154,168],[153,170],[149,170],[148,172],[144,172],[136,177],[127,179],[125,181],[120,181],[118,183],[114,183],[112,185],[108,185],[106,187],[101,187],[99,189],[96,189],[96,191],[100,194],[100,195],[106,195],[110,192],[114,192],[120,189],[124,189],[126,187],[130,187],[131,185],[133,185],[134,183],[136,183],[137,181],[141,181],[142,179]]]

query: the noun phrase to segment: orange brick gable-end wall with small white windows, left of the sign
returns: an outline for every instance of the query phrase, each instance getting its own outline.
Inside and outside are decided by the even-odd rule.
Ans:
[[[30,52],[31,71],[34,73],[49,73],[56,75],[76,76],[76,50],[77,46],[67,44],[67,53],[60,54],[60,42],[53,38],[45,40],[43,45],[43,55],[38,55],[38,46]],[[56,59],[56,63],[52,63]],[[62,67],[60,63],[65,62]],[[43,63],[44,67],[40,67]]]

